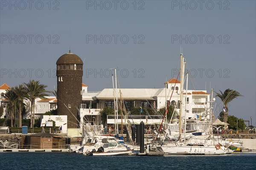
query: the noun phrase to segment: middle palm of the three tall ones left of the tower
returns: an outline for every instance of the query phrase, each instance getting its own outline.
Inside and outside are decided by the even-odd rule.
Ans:
[[[16,101],[19,109],[19,127],[22,127],[22,106],[24,105],[23,100],[27,98],[27,91],[23,85],[15,86],[14,92],[17,96]]]

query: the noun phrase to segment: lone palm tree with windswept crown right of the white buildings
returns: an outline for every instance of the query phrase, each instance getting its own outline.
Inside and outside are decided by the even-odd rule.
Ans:
[[[227,123],[227,118],[228,118],[228,108],[227,108],[227,105],[235,98],[237,98],[238,96],[242,96],[238,91],[235,91],[235,90],[230,90],[229,88],[226,89],[224,91],[224,93],[222,93],[222,91],[220,91],[221,94],[216,93],[216,96],[219,97],[221,99],[221,101],[223,102],[224,104],[224,109],[223,109],[223,112],[224,112],[224,118],[223,118],[223,121],[225,123]]]

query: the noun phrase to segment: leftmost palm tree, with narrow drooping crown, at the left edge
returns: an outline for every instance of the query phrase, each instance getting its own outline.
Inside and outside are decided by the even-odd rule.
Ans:
[[[16,94],[14,92],[14,88],[9,88],[6,90],[6,94],[3,96],[4,99],[8,100],[6,111],[8,113],[8,116],[11,118],[11,127],[13,127],[13,118],[14,118],[14,112],[15,107],[17,105],[16,102]]]

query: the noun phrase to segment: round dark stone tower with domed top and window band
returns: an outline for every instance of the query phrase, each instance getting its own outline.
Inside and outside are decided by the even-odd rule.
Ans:
[[[59,57],[56,65],[58,115],[67,115],[67,128],[78,128],[78,108],[82,103],[83,61],[69,51]]]

